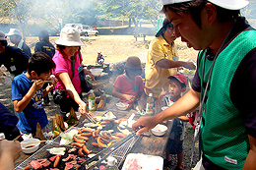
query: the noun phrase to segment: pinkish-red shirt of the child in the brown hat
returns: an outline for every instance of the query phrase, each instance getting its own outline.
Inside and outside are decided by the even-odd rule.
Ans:
[[[135,80],[131,80],[133,85],[140,85],[140,90],[144,89],[144,84],[141,76],[136,76]],[[114,86],[119,89],[120,93],[130,94],[138,97],[138,93],[134,90],[133,85],[129,82],[129,80],[124,76],[120,75],[116,78]],[[119,101],[129,103],[125,98],[120,98]]]

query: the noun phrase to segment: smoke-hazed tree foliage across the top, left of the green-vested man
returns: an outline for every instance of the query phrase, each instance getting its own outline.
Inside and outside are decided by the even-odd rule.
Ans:
[[[1,16],[16,21],[25,32],[29,21],[58,30],[59,19],[63,24],[93,26],[98,20],[121,19],[138,26],[141,20],[157,20],[161,7],[159,0],[1,0],[1,3]]]

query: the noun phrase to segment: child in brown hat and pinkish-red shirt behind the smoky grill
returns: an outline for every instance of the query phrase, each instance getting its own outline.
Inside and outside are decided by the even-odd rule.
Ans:
[[[112,95],[119,98],[120,102],[128,103],[129,107],[140,98],[139,107],[144,107],[144,84],[142,77],[141,60],[138,57],[129,57],[124,66],[125,74],[116,78]]]

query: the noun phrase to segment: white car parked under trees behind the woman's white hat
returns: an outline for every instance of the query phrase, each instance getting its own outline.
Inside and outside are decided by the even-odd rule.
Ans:
[[[66,24],[66,27],[71,27],[71,28],[77,28],[80,31],[80,35],[98,35],[98,31],[96,29],[91,28],[90,26],[87,25],[82,25],[82,24]]]

